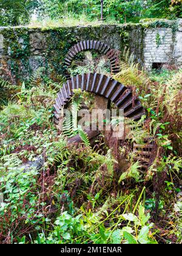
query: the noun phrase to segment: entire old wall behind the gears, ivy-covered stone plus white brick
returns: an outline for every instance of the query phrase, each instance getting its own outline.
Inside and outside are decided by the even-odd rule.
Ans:
[[[127,46],[147,70],[153,63],[182,65],[182,20],[140,24],[52,28],[0,27],[0,76],[22,80],[38,67],[64,74],[64,57],[81,40],[100,40],[111,48]]]

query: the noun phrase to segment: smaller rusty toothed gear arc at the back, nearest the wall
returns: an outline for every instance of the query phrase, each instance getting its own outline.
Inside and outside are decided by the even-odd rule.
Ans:
[[[73,59],[79,52],[89,51],[92,49],[101,52],[101,54],[107,55],[110,62],[110,69],[112,74],[117,74],[120,71],[120,65],[118,63],[118,57],[115,54],[115,50],[110,49],[107,44],[102,43],[101,41],[94,40],[80,41],[79,43],[72,46],[64,60],[66,67],[69,68],[69,66],[72,64]],[[66,78],[67,80],[70,79],[70,74],[68,73],[68,71],[66,74]]]

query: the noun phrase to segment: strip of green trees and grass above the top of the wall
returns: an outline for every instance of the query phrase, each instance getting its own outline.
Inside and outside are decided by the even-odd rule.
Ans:
[[[38,23],[88,23],[100,18],[100,0],[0,0],[0,25]],[[104,18],[110,22],[134,22],[143,18],[182,17],[181,0],[104,0]],[[47,21],[49,20],[49,22]]]

